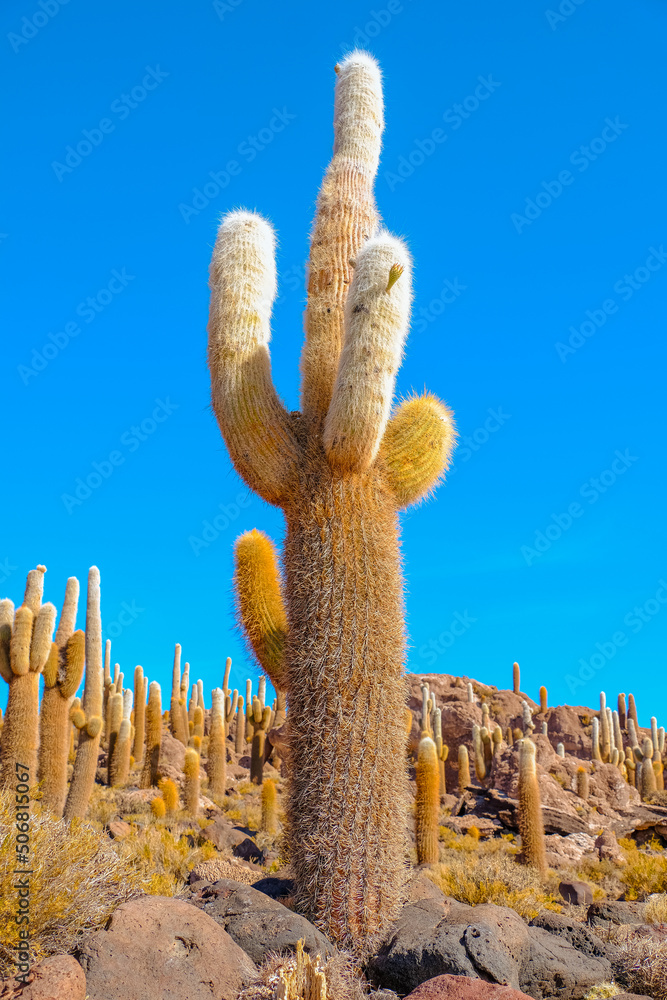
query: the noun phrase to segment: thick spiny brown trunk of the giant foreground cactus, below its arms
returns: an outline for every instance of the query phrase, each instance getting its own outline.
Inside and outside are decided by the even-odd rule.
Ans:
[[[290,858],[306,911],[351,944],[391,924],[402,882],[395,506],[377,470],[336,480],[322,454],[286,515]]]

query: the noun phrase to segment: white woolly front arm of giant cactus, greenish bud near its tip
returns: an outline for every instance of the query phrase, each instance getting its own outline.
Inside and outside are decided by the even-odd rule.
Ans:
[[[398,275],[391,282],[391,276]],[[356,259],[345,304],[345,344],[324,424],[332,468],[364,472],[375,460],[394,395],[408,332],[410,255],[401,240],[381,233]]]

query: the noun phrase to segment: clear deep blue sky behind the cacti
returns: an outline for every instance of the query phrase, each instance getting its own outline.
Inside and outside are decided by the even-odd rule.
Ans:
[[[209,410],[208,261],[228,209],[276,226],[273,368],[295,408],[333,67],[359,44],[385,74],[379,206],[415,258],[398,390],[447,400],[462,435],[448,484],[403,517],[408,666],[508,686],[518,659],[533,697],[632,690],[664,724],[664,0],[0,17],[0,590],[19,600],[43,562],[59,606],[95,563],[126,674],[166,686],[179,641],[207,688],[228,654],[244,680],[232,544],[283,526]]]

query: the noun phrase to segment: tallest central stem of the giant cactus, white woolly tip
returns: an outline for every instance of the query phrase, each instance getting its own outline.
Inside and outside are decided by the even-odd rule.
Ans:
[[[317,199],[301,355],[301,408],[317,423],[329,409],[338,371],[351,261],[378,224],[373,184],[384,129],[375,60],[353,52],[336,71],[334,151]]]

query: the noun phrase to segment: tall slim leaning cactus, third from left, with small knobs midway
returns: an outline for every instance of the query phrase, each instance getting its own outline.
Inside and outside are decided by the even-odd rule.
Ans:
[[[97,755],[102,733],[104,699],[102,668],[102,618],[100,615],[100,571],[91,566],[88,571],[86,601],[86,677],[81,708],[72,721],[79,730],[79,744],[74,760],[64,817],[69,822],[83,819],[95,784]]]

